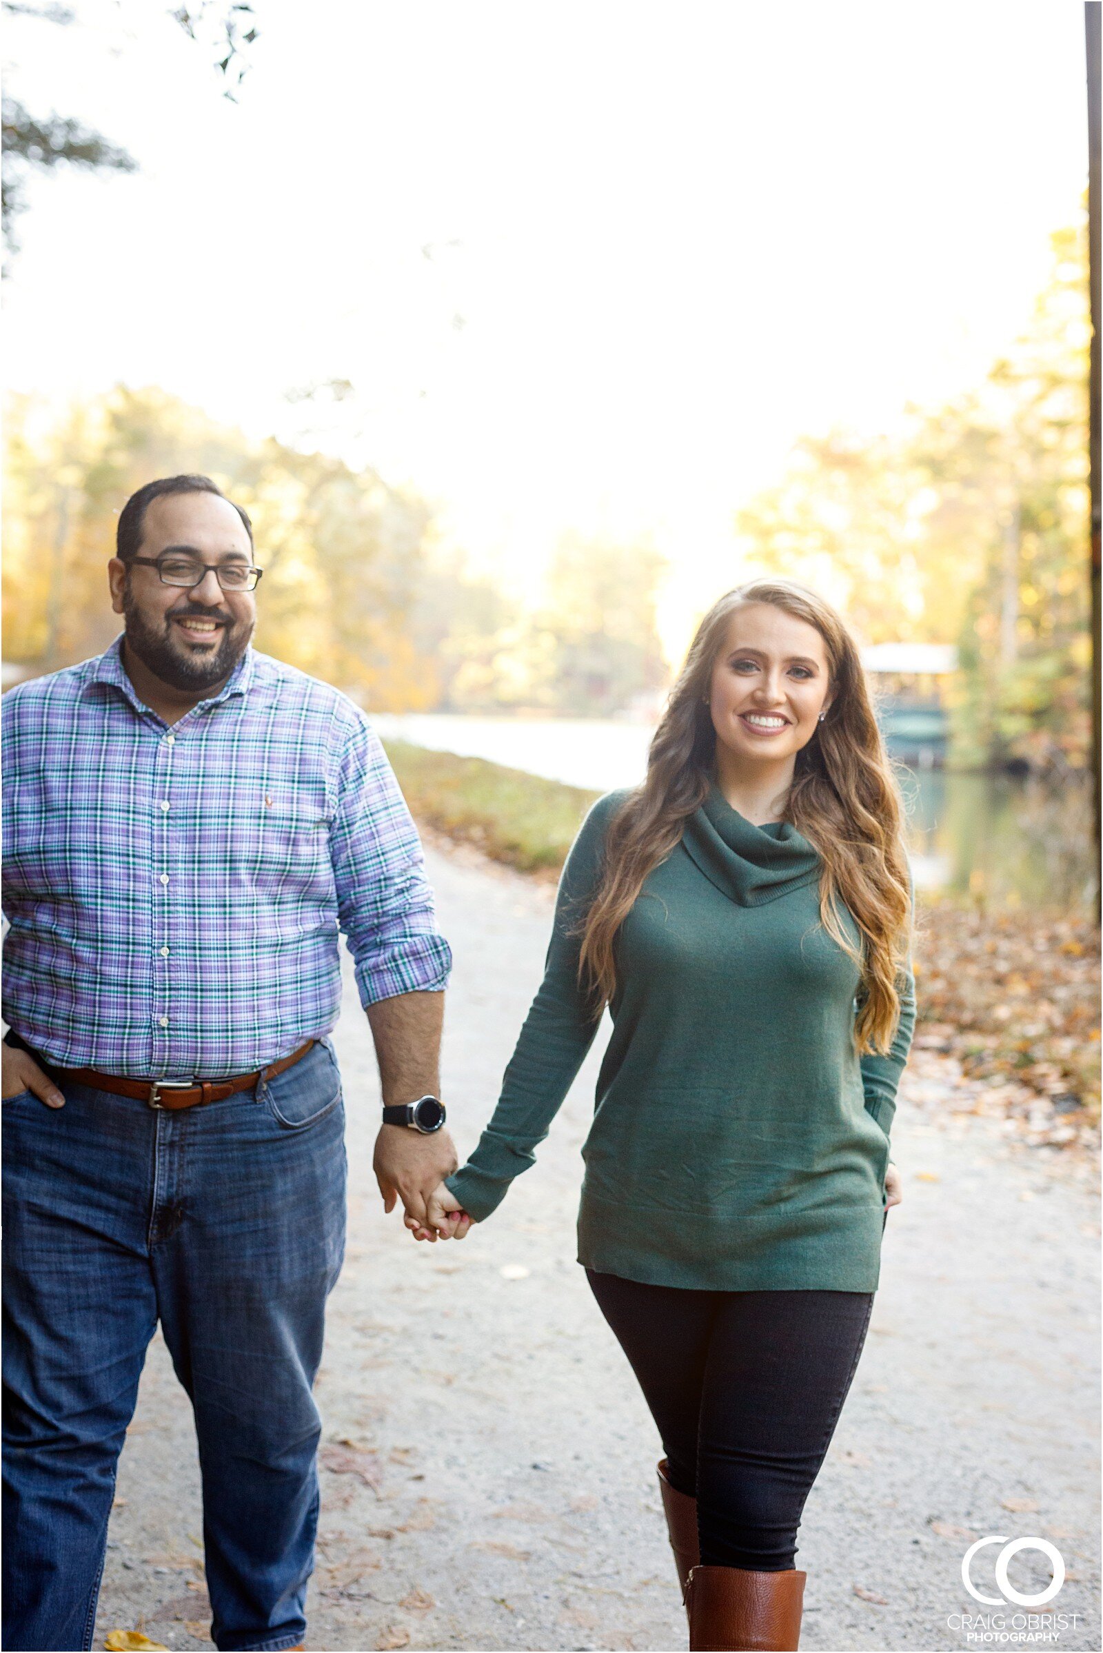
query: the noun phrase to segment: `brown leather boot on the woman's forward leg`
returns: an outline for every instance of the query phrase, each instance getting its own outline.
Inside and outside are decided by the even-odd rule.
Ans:
[[[807,1574],[695,1567],[686,1589],[693,1653],[795,1653]]]

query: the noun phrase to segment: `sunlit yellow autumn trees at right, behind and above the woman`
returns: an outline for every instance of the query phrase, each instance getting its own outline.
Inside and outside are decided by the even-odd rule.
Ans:
[[[1080,228],[984,385],[896,438],[802,441],[736,517],[752,570],[820,588],[865,641],[959,645],[961,764],[1086,762],[1086,349]]]

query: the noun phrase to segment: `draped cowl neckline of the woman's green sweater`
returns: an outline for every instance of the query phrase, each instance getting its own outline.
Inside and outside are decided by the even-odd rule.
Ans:
[[[810,884],[820,856],[792,822],[756,826],[733,810],[716,782],[681,835],[686,855],[729,901],[761,907]]]

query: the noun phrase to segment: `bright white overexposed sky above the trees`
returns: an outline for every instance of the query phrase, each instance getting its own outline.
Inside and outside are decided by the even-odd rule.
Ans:
[[[157,0],[78,8],[10,89],[142,172],[31,187],[8,382],[369,461],[518,584],[650,534],[671,638],[795,438],[986,374],[1086,183],[1078,0],[256,0],[236,106]]]

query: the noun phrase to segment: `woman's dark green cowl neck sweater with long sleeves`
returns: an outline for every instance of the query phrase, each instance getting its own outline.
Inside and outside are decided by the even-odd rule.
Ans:
[[[599,798],[582,823],[498,1106],[448,1179],[478,1222],[532,1164],[597,1033],[577,927],[625,795]],[[587,1268],[719,1291],[876,1289],[914,982],[906,972],[891,1051],[858,1058],[858,965],[820,924],[819,866],[789,822],[756,826],[713,787],[648,874],[617,936],[582,1149]]]

